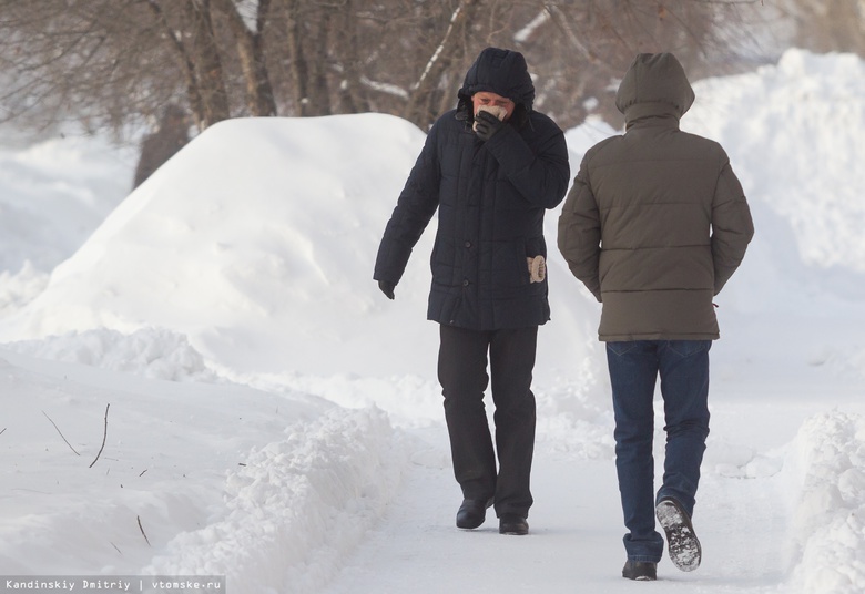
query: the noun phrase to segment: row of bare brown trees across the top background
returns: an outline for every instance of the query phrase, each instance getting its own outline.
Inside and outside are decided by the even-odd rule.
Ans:
[[[794,1],[794,0],[790,0]],[[844,0],[845,2],[847,0]],[[852,0],[851,0],[852,1]],[[838,0],[841,2],[841,0]],[[609,112],[639,51],[700,70],[760,0],[0,0],[0,119],[124,130],[186,110],[237,116],[376,111],[426,129],[486,47],[526,54],[561,125]],[[725,28],[729,31],[731,28]]]

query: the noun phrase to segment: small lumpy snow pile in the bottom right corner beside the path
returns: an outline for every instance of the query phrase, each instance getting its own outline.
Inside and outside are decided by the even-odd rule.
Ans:
[[[865,416],[827,412],[796,437],[793,515],[798,563],[790,581],[807,594],[865,591]]]

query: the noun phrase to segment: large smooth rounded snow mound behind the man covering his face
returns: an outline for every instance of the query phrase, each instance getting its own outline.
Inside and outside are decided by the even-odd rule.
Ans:
[[[3,319],[0,339],[163,327],[238,371],[434,377],[438,332],[424,319],[434,234],[396,301],[372,279],[423,142],[416,126],[380,114],[221,122]],[[558,324],[543,330],[541,361],[567,373],[586,357],[579,337],[593,335],[597,304],[560,259],[549,274]]]

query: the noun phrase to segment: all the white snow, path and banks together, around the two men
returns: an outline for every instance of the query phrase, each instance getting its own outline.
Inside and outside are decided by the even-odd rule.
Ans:
[[[703,565],[662,562],[660,587],[862,593],[865,63],[791,50],[694,86],[682,127],[727,150],[756,236],[718,298]],[[573,172],[613,133],[568,131]],[[531,534],[454,526],[424,320],[431,233],[395,301],[372,280],[423,140],[378,114],[228,121],[128,197],[134,151],[0,150],[1,576],[217,575],[235,594],[653,587],[620,577],[599,306],[558,254]]]

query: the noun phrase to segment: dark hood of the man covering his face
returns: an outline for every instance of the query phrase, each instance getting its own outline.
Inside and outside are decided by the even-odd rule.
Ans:
[[[460,102],[466,102],[471,100],[471,95],[481,91],[508,98],[517,105],[531,111],[535,84],[531,82],[522,54],[499,48],[487,48],[480,52],[466,73],[466,80],[457,96]]]

